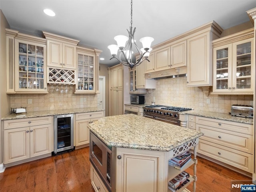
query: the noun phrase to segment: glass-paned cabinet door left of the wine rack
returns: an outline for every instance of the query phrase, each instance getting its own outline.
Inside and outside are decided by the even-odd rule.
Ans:
[[[16,92],[47,92],[45,53],[46,44],[15,41]]]

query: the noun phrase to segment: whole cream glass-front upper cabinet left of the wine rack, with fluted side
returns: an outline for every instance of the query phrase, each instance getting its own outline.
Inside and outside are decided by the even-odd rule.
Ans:
[[[6,29],[7,93],[45,94],[46,40]]]

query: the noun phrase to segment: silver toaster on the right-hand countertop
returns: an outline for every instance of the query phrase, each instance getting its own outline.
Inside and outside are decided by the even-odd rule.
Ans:
[[[232,105],[231,115],[253,118],[253,108],[252,106],[249,106],[249,105]]]

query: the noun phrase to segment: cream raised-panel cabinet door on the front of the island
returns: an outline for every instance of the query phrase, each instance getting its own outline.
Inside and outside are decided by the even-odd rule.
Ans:
[[[117,148],[116,155],[116,192],[166,191],[164,152]]]

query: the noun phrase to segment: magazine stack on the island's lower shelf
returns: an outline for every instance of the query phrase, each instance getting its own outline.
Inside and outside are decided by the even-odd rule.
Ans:
[[[189,174],[187,172],[183,171],[180,174],[178,174],[175,178],[173,178],[172,180],[170,180],[168,182],[168,188],[172,192],[176,192],[176,190],[182,188],[185,184],[190,182],[190,180],[188,180],[188,178],[189,178]]]

